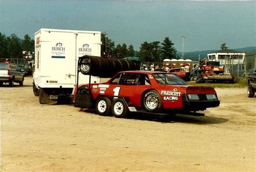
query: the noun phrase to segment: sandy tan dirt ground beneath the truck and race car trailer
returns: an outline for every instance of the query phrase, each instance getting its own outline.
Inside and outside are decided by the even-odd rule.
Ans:
[[[256,171],[256,97],[215,90],[205,116],[165,121],[40,105],[32,78],[0,87],[1,171]]]

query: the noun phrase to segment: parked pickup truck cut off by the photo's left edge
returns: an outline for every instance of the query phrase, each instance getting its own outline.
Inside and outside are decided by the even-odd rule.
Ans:
[[[9,83],[9,86],[13,86],[14,82],[23,86],[24,73],[21,71],[18,65],[14,63],[0,63],[0,85],[3,83]]]

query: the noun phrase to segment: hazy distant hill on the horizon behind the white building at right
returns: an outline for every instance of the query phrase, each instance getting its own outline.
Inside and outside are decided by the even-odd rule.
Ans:
[[[231,50],[250,53],[250,52],[256,51],[256,46],[244,47],[244,48],[240,48],[240,49],[231,49]],[[198,55],[200,54],[200,59],[203,59],[203,58],[207,57],[208,53],[212,53],[215,51],[218,51],[218,50],[184,52],[184,58],[191,59],[191,60],[198,60]],[[178,54],[178,57],[181,57],[182,52],[178,51],[177,54]]]

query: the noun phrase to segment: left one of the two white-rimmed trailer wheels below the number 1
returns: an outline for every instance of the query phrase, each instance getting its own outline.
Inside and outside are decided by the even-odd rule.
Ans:
[[[107,116],[111,114],[111,100],[106,97],[100,97],[96,101],[96,112],[101,116]]]

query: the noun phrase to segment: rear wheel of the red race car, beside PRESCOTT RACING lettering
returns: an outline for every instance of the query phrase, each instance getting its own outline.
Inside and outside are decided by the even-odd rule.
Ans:
[[[156,90],[150,90],[144,94],[142,105],[149,112],[159,112],[163,106],[161,97]]]

